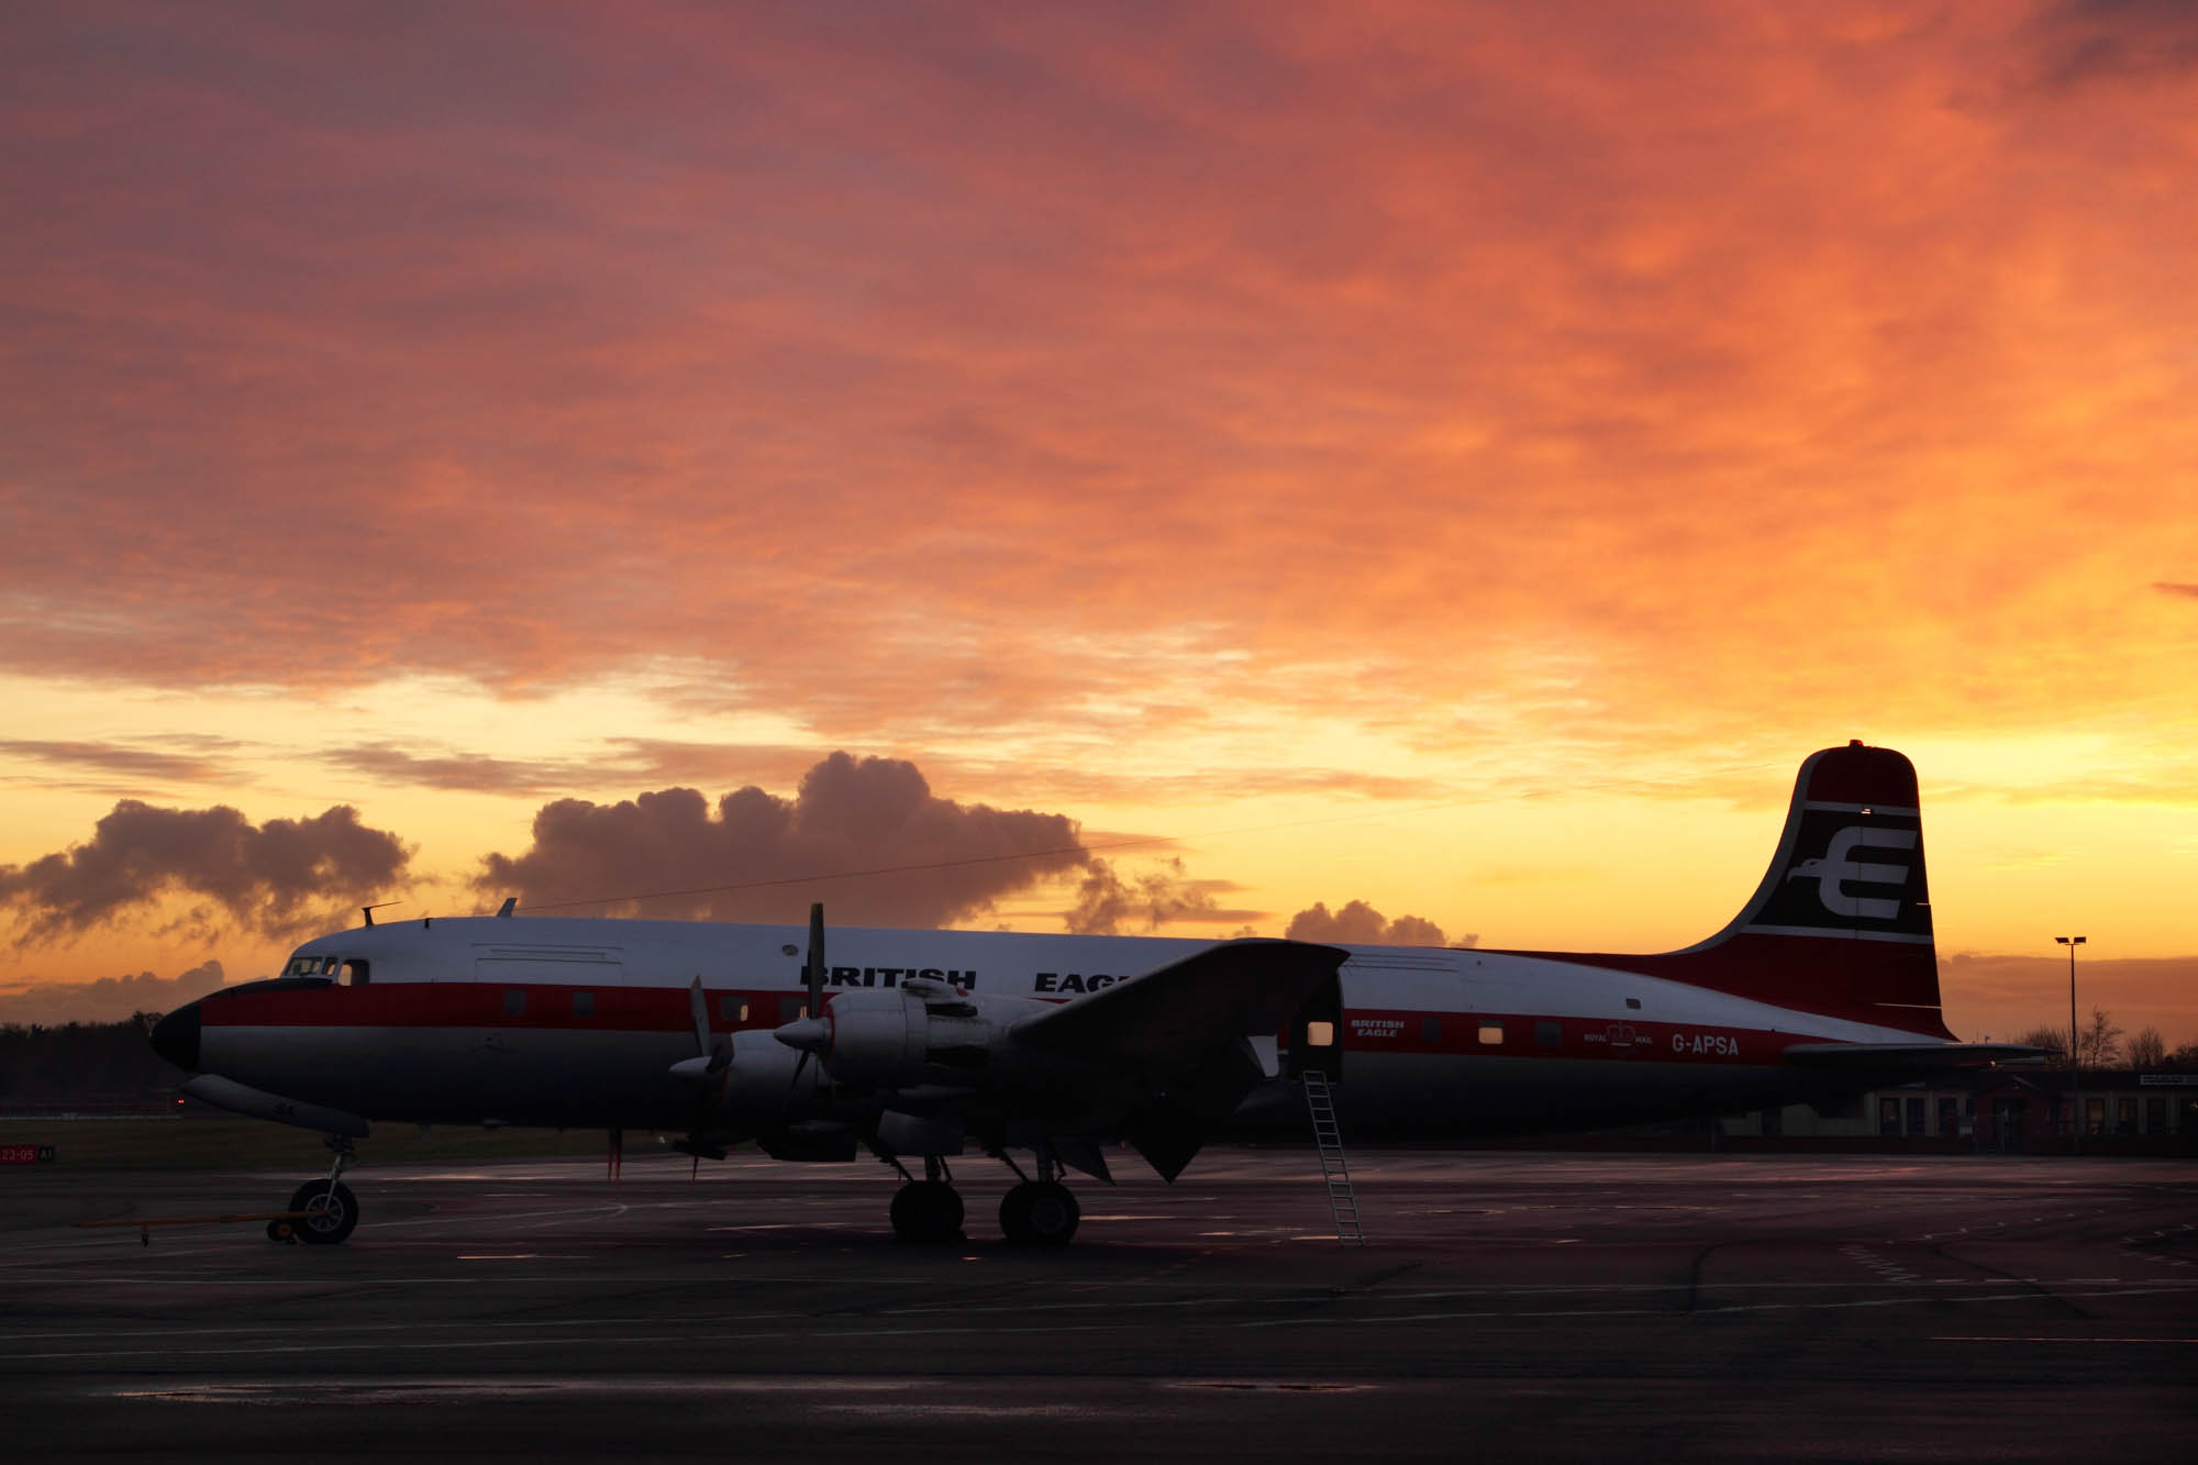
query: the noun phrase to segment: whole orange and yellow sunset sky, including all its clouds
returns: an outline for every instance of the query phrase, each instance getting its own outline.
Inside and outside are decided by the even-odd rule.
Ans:
[[[0,1021],[798,875],[615,908],[1659,950],[1864,739],[1961,1036],[2198,1038],[2194,180],[2174,0],[11,4]]]

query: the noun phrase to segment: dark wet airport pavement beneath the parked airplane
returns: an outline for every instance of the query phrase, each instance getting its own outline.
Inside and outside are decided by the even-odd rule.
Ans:
[[[371,1159],[371,1148],[369,1148]],[[2187,1458],[2198,1166],[1308,1150],[1079,1183],[1066,1249],[895,1243],[875,1164],[0,1179],[13,1458]]]

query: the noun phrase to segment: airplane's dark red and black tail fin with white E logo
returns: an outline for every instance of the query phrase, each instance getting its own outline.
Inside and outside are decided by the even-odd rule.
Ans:
[[[1657,957],[1572,959],[1952,1038],[1939,1010],[1914,765],[1860,741],[1811,752],[1778,853],[1732,924]]]

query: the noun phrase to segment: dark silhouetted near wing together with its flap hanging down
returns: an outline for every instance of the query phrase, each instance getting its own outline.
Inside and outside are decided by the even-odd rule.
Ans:
[[[1347,959],[1306,941],[1224,941],[1026,1016],[1011,1036],[1132,1076],[1139,1100],[1117,1133],[1174,1181],[1264,1078],[1251,1038],[1288,1027]]]

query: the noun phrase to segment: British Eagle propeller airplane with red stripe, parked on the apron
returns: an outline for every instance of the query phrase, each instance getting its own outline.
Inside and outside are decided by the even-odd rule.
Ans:
[[[1860,741],[1802,761],[1741,913],[1659,955],[835,928],[826,959],[822,906],[804,933],[506,900],[367,908],[152,1045],[185,1093],[328,1135],[290,1201],[312,1243],[358,1223],[341,1175],[369,1120],[604,1128],[613,1157],[686,1131],[697,1164],[868,1150],[903,1181],[895,1234],[928,1243],[961,1238],[947,1166],[976,1146],[1018,1179],[1002,1234],[1059,1245],[1062,1177],[1112,1183],[1103,1146],[1172,1183],[1222,1133],[1303,1128],[1312,1073],[1358,1142],[1824,1106],[2040,1056],[1945,1027],[1914,768]]]

